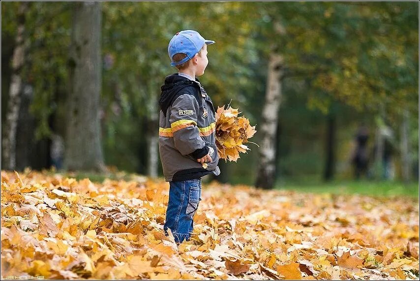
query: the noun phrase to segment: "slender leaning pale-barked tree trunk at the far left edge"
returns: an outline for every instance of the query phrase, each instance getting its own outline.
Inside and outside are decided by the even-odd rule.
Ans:
[[[25,15],[29,2],[22,2],[18,12],[18,31],[12,58],[12,77],[9,88],[6,123],[2,136],[2,169],[12,170],[16,167],[16,130],[22,94],[21,69],[25,61]]]

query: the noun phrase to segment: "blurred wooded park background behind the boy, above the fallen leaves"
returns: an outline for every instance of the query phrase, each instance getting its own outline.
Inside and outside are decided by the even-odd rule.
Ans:
[[[3,1],[1,169],[162,176],[157,100],[186,29],[216,41],[214,105],[257,129],[217,181],[418,194],[417,1]]]

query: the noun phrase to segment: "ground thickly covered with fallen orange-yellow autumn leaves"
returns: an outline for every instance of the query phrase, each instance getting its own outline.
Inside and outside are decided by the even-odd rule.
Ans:
[[[211,183],[192,240],[163,235],[168,183],[1,171],[1,275],[418,279],[419,204]]]

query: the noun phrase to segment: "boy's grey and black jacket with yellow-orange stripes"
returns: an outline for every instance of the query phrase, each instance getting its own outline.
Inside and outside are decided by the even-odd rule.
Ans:
[[[159,154],[167,182],[220,174],[215,110],[210,97],[196,81],[175,73],[167,76],[161,87]],[[205,169],[197,159],[209,152],[212,161]]]

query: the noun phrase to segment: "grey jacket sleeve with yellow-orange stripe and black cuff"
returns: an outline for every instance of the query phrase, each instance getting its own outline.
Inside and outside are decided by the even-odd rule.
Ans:
[[[175,148],[182,155],[191,155],[196,159],[209,153],[209,147],[201,138],[197,127],[199,105],[193,95],[181,94],[172,104],[171,123]]]

